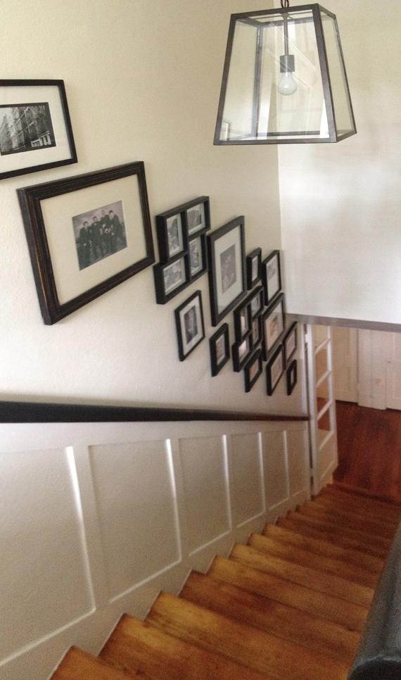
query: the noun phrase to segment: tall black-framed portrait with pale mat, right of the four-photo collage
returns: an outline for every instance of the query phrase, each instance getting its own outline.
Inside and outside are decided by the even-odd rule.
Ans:
[[[212,326],[246,295],[244,218],[231,220],[208,235]]]

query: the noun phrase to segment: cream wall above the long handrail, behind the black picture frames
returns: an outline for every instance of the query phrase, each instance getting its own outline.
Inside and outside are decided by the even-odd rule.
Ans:
[[[2,0],[1,77],[65,81],[79,162],[0,182],[1,398],[300,408],[300,391],[248,395],[231,363],[210,377],[208,341],[180,363],[174,308],[194,290],[210,327],[208,279],[165,306],[152,268],[44,326],[16,189],[144,160],[154,215],[210,196],[212,228],[246,216],[246,249],[280,247],[276,148],[214,147],[231,12],[253,0]],[[157,252],[157,248],[156,248]],[[231,321],[231,341],[234,333]]]

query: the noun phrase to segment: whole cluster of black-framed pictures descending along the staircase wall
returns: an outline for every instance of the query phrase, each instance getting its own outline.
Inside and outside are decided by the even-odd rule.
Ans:
[[[63,81],[0,81],[0,179],[77,163]],[[84,190],[84,191],[83,191]],[[142,161],[17,190],[39,305],[52,325],[155,263]],[[249,392],[263,372],[271,396],[297,382],[297,325],[286,328],[280,253],[246,253],[245,218],[211,231],[208,196],[156,215],[155,301],[165,305],[208,272],[210,372],[231,360]],[[93,265],[96,265],[94,267]],[[229,324],[233,315],[234,338]],[[203,300],[192,291],[174,310],[184,361],[205,339]],[[221,324],[221,325],[220,325]]]

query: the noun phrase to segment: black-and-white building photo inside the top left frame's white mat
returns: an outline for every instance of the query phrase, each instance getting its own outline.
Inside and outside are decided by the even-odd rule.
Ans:
[[[49,103],[0,106],[0,155],[56,146]]]

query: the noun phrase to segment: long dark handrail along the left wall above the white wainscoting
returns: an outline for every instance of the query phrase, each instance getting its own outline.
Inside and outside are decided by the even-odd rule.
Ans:
[[[309,420],[307,415],[269,415],[202,408],[151,408],[1,401],[0,423],[11,422],[168,422],[190,420]]]

